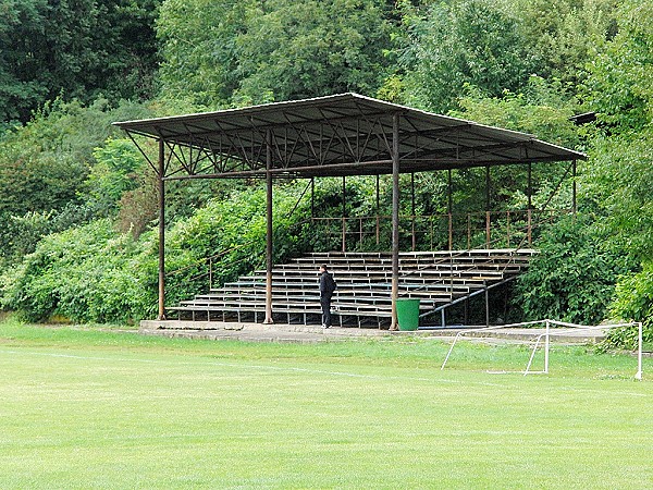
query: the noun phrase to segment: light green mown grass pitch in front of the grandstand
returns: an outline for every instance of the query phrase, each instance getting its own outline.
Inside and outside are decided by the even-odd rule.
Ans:
[[[653,488],[653,365],[0,322],[0,488]]]

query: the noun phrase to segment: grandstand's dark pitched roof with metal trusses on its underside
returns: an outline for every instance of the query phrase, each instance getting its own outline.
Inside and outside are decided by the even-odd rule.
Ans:
[[[163,143],[165,180],[389,174],[395,144],[402,173],[587,158],[529,134],[357,94],[114,124],[135,143],[136,135]]]

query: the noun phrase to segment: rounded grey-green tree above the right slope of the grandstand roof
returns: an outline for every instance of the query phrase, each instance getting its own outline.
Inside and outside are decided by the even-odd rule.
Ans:
[[[458,108],[467,85],[498,97],[528,81],[532,54],[496,1],[438,2],[409,22],[403,98],[412,106],[444,113]]]

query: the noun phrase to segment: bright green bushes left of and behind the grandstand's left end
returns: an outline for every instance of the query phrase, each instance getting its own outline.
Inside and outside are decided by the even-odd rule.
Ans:
[[[305,252],[306,203],[298,206],[294,186],[275,188],[274,260]],[[234,193],[211,201],[168,232],[167,304],[209,289],[206,258],[214,262],[213,284],[264,267],[266,193]],[[158,243],[156,231],[135,240],[109,219],[46,236],[34,253],[0,278],[0,304],[26,320],[62,316],[75,322],[124,323],[157,313]]]

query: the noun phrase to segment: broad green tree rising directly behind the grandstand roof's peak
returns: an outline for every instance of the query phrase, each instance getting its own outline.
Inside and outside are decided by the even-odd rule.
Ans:
[[[236,100],[287,100],[344,91],[375,94],[387,72],[384,3],[272,0],[249,12],[237,39]],[[261,99],[262,96],[262,99]]]

